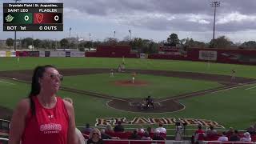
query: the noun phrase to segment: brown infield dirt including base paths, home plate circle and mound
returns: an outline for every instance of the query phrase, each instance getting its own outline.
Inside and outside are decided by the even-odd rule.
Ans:
[[[177,77],[177,78],[188,78],[194,80],[206,80],[212,82],[221,83],[222,86],[212,88],[209,90],[199,90],[192,93],[178,94],[170,98],[158,98],[154,100],[155,108],[142,110],[138,108],[143,99],[142,98],[117,98],[108,94],[94,93],[86,90],[76,90],[74,88],[69,88],[62,86],[61,90],[77,93],[77,94],[86,94],[98,98],[106,98],[110,101],[107,102],[107,106],[110,106],[117,110],[131,111],[131,112],[143,112],[143,113],[164,113],[164,112],[174,112],[178,110],[183,110],[184,105],[178,102],[179,99],[190,98],[195,96],[200,96],[204,94],[212,94],[220,90],[227,90],[230,88],[243,86],[246,84],[254,83],[256,79],[254,78],[241,78],[237,77],[235,80],[231,80],[230,76],[219,75],[219,74],[202,74],[202,73],[192,73],[192,72],[178,72],[170,70],[134,70],[127,69],[126,73],[130,74],[131,72],[136,71],[138,74],[150,74],[150,75],[160,75],[165,77]],[[109,73],[109,69],[61,69],[60,72],[65,76],[74,76],[81,74],[104,74]],[[0,71],[1,78],[15,79],[19,82],[30,82],[32,70],[12,70],[12,71]],[[146,85],[146,82],[138,83],[128,83],[127,82],[114,82],[115,84],[121,86],[143,86]],[[11,110],[6,110],[6,108],[1,107],[0,113],[2,118],[10,118]]]

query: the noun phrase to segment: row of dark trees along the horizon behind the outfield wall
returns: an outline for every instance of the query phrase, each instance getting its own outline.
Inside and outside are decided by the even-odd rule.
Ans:
[[[166,41],[154,42],[150,39],[144,38],[133,38],[130,40],[129,37],[118,40],[117,38],[106,38],[104,41],[78,41],[78,38],[62,38],[61,40],[52,39],[33,39],[33,38],[23,38],[17,41],[17,49],[27,49],[29,46],[34,50],[55,50],[55,49],[92,49],[99,45],[130,45],[132,50],[139,53],[154,54],[158,53],[159,46],[176,46],[183,50],[189,47],[198,48],[239,48],[239,49],[255,49],[256,42],[248,41],[243,43],[231,42],[226,36],[220,36],[210,42],[198,42],[193,38],[183,38],[179,39],[178,34],[170,34]],[[14,46],[14,39],[7,38],[6,46],[11,49]]]

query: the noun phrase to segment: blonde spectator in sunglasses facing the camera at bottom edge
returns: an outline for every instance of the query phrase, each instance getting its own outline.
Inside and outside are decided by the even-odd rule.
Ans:
[[[90,131],[87,144],[103,144],[101,132],[98,129]]]

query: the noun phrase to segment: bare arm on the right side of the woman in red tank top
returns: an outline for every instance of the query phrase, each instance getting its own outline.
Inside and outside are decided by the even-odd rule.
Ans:
[[[70,102],[63,101],[66,110],[69,114],[70,117],[70,122],[69,122],[69,128],[68,128],[68,135],[67,135],[67,143],[68,144],[76,144],[78,142],[78,138],[75,135],[75,119],[74,119],[74,108]]]

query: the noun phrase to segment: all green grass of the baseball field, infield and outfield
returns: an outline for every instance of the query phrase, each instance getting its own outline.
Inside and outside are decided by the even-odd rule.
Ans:
[[[18,63],[15,58],[0,58],[0,70],[26,70],[45,64],[53,64],[58,68],[115,68],[121,62],[122,58],[21,58],[20,62]],[[125,59],[125,62],[126,68],[131,69],[192,71],[210,74],[230,75],[230,70],[236,69],[238,71],[238,76],[256,78],[256,66],[211,63],[210,67],[208,67],[205,62],[182,62],[128,58]],[[146,79],[147,81],[150,81],[150,85],[152,86],[145,89],[140,88],[143,92],[134,90],[134,87],[118,87],[117,89],[111,83],[113,82],[113,79],[109,80],[110,77],[108,74],[90,74],[65,77],[63,86],[70,86],[73,88],[77,87],[81,90],[95,90],[106,94],[113,94],[115,96],[123,95],[129,98],[131,96],[144,97],[144,94],[147,95],[148,93],[156,94],[164,98],[167,95],[172,96],[172,94],[175,93],[179,94],[182,92],[203,90],[209,87],[213,88],[214,86],[218,86],[218,84],[214,82],[192,81],[182,78],[166,78],[144,74],[138,76],[144,80]],[[129,77],[129,74],[120,74],[116,75],[114,79]],[[6,82],[11,82],[13,84],[8,84]],[[158,82],[165,84],[158,86]],[[233,126],[236,129],[242,130],[254,124],[256,120],[256,118],[254,118],[254,114],[256,112],[254,108],[256,104],[256,88],[254,88],[254,86],[256,85],[241,86],[232,90],[225,90],[214,94],[186,98],[180,101],[186,106],[185,110],[164,114],[123,112],[121,110],[114,110],[106,106],[106,99],[93,98],[82,94],[68,93],[62,90],[60,90],[58,94],[62,97],[70,97],[74,99],[77,126],[84,126],[86,122],[90,122],[90,124],[93,125],[96,118],[169,117],[211,119],[219,122],[223,126]],[[114,90],[113,87],[115,88]],[[159,91],[152,90],[153,88],[158,88]],[[165,89],[166,91],[161,93],[161,89]],[[0,105],[14,109],[17,102],[21,98],[25,98],[29,93],[29,90],[30,85],[0,79]]]

